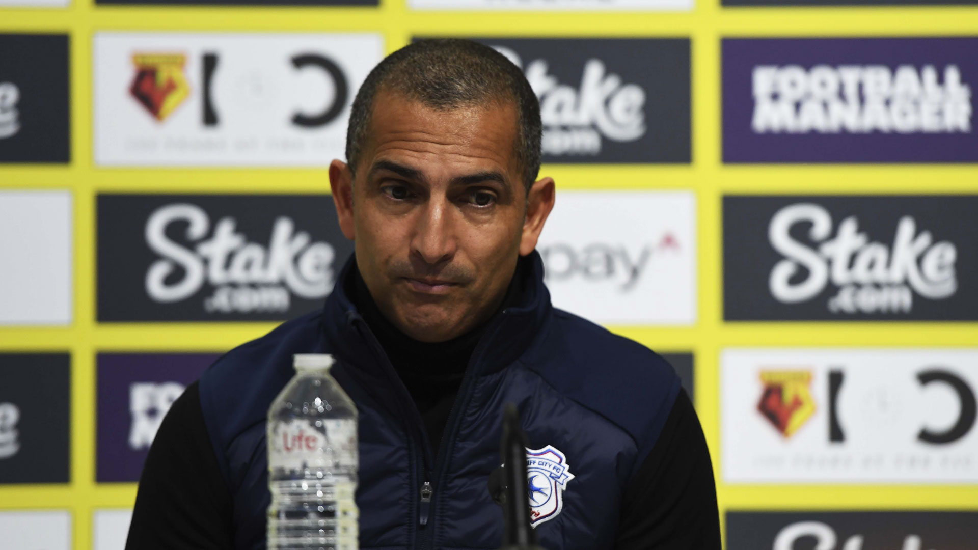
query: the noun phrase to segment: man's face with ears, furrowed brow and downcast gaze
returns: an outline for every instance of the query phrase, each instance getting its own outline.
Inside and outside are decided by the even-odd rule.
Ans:
[[[513,105],[435,111],[381,92],[355,179],[333,161],[333,199],[357,266],[408,336],[444,342],[487,320],[518,255],[536,246],[550,207],[535,206],[534,192],[528,204],[516,139]],[[553,206],[553,180],[534,189],[541,183]]]

